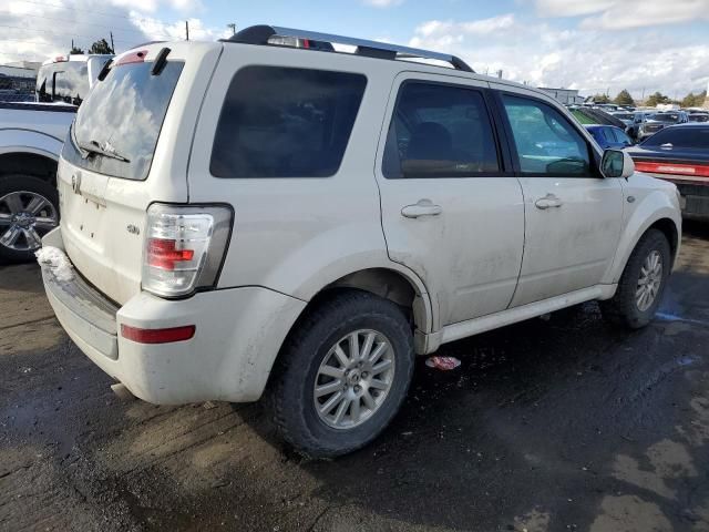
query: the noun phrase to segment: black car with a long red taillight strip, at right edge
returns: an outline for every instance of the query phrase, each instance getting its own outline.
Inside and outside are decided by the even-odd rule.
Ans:
[[[709,221],[709,123],[667,126],[628,153],[637,171],[677,185],[685,217]]]

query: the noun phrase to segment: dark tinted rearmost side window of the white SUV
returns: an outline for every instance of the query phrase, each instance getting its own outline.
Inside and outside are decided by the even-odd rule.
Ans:
[[[361,74],[246,66],[226,94],[215,177],[329,177],[340,167],[367,79]]]

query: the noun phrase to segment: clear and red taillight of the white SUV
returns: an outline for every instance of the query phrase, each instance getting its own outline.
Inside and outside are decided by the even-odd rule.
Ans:
[[[143,289],[178,297],[214,288],[232,232],[223,206],[153,204],[147,209]]]

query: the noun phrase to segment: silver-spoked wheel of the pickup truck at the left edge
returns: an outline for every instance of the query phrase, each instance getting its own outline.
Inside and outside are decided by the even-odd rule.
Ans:
[[[59,225],[56,190],[31,175],[0,177],[0,258],[25,262]]]

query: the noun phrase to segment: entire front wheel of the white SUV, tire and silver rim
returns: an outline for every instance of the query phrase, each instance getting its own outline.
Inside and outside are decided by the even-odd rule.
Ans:
[[[667,237],[660,231],[648,231],[633,250],[615,296],[600,303],[604,316],[631,329],[649,324],[662,299],[670,265]]]

